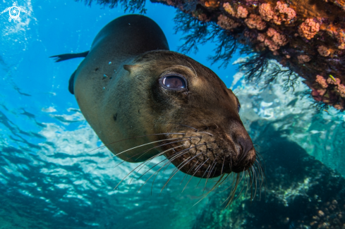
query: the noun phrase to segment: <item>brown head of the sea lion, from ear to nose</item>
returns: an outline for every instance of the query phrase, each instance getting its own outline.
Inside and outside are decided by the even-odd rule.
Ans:
[[[123,68],[133,99],[140,100],[128,120],[145,120],[147,135],[164,133],[150,140],[161,141],[159,151],[180,171],[214,178],[253,166],[256,153],[238,114],[241,105],[212,70],[173,51],[149,51]]]

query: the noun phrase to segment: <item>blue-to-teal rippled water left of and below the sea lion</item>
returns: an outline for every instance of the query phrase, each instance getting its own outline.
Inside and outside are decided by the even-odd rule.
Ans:
[[[192,180],[193,188],[181,194],[180,173],[161,193],[172,168],[157,178],[152,194],[151,182],[137,193],[147,179],[137,180],[139,175],[114,190],[138,165],[114,168],[121,160],[109,159],[108,149],[91,151],[101,142],[68,92],[81,59],[49,58],[89,50],[97,32],[123,16],[123,9],[74,1],[16,3],[27,11],[19,23],[0,15],[0,228],[190,228],[207,199],[192,207],[202,189],[195,193]],[[1,11],[12,4],[1,1]],[[175,9],[147,1],[146,15],[176,51],[182,35],[173,30]],[[191,57],[210,66],[214,44],[199,48]],[[213,69],[231,84],[235,68]]]

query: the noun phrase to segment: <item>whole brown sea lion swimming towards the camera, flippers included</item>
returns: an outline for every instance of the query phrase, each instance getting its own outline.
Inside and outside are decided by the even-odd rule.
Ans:
[[[209,68],[169,51],[150,18],[128,15],[107,24],[69,80],[80,110],[100,140],[124,161],[164,155],[199,178],[253,171],[255,148],[240,103]]]

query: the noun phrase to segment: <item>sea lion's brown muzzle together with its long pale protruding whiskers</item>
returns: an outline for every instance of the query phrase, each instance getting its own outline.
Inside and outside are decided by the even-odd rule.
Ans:
[[[229,177],[229,175],[233,174],[233,182],[230,186],[231,193],[229,195],[229,198],[226,200],[226,206],[231,204],[231,202],[233,201],[236,194],[236,189],[241,180],[246,180],[247,182],[247,185],[243,185],[243,187],[246,186],[246,193],[248,192],[248,189],[251,190],[250,199],[255,198],[257,190],[261,190],[262,183],[265,180],[265,173],[261,166],[262,158],[260,154],[255,151],[251,140],[250,142],[246,142],[243,138],[238,138],[237,145],[235,145],[233,144],[235,141],[229,140],[229,136],[222,137],[219,132],[212,130],[212,128],[203,131],[198,130],[197,128],[190,127],[188,125],[181,126],[190,128],[191,130],[155,134],[155,136],[160,136],[162,140],[147,143],[157,143],[157,145],[140,153],[145,154],[147,153],[147,151],[150,151],[152,149],[160,149],[159,154],[156,154],[150,159],[147,159],[146,161],[141,163],[140,166],[147,163],[148,161],[151,161],[152,159],[157,158],[158,156],[164,155],[166,157],[166,159],[155,164],[155,166],[160,166],[160,168],[155,173],[150,175],[150,178],[152,178],[152,176],[154,176],[155,174],[157,176],[159,171],[167,168],[169,164],[174,164],[174,166],[176,166],[175,171],[171,173],[169,179],[162,187],[162,190],[164,189],[164,187],[166,187],[171,178],[173,178],[174,175],[178,173],[178,171],[182,171],[183,173],[191,176],[186,186],[193,177],[205,178],[205,187],[207,184],[207,180],[219,177],[217,182],[215,182],[215,184],[213,185],[211,190],[207,192],[207,194],[212,192],[215,187],[222,184],[226,180],[226,178]],[[147,144],[138,147],[143,147]],[[229,145],[234,145],[234,147],[229,147]],[[165,163],[162,164],[162,162],[164,161]],[[135,171],[140,166],[137,166],[133,171]],[[152,166],[152,168],[154,168],[155,166]],[[150,168],[150,170],[152,168]],[[133,173],[133,171],[131,171],[131,173]],[[128,173],[126,177],[128,177],[128,175],[131,175],[131,173]],[[147,171],[145,173],[147,173]],[[140,178],[142,176],[143,175],[141,175]],[[123,180],[126,177],[124,177]],[[150,178],[148,178],[145,183],[150,180]],[[121,182],[123,180],[121,180]],[[121,182],[119,182],[116,187],[118,187]],[[186,188],[186,186],[184,188]],[[241,189],[241,192],[243,190],[243,187]]]

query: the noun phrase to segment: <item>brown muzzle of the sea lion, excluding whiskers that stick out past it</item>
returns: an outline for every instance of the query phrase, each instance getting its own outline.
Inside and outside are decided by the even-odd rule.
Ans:
[[[174,135],[173,138],[181,136]],[[216,178],[222,174],[241,173],[253,168],[257,161],[251,140],[239,138],[236,142],[219,133],[193,131],[185,132],[183,137],[184,141],[164,144],[162,149],[166,151],[167,159],[188,175]]]

